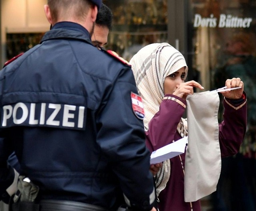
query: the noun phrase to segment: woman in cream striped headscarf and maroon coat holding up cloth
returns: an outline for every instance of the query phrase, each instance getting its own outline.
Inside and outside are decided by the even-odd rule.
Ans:
[[[153,152],[188,136],[187,119],[182,118],[186,99],[193,94],[193,87],[204,88],[196,81],[185,82],[188,67],[183,55],[168,43],[153,43],[138,51],[130,64],[144,104],[149,150]],[[238,152],[246,131],[246,94],[239,78],[227,79],[226,86],[241,87],[222,92],[224,121],[219,126],[217,122],[221,156],[232,156]],[[201,210],[200,200],[184,199],[185,154],[164,161],[156,175],[160,211]]]

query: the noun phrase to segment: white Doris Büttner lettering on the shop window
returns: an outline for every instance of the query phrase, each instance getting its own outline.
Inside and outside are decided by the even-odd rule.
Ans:
[[[240,18],[230,14],[220,14],[216,18],[213,14],[208,18],[202,17],[200,14],[195,14],[194,27],[209,27],[209,28],[249,28],[252,23],[252,18]]]

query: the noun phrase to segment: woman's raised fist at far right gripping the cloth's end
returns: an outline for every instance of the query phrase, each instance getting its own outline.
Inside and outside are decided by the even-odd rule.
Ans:
[[[224,91],[220,92],[222,95],[228,99],[232,100],[237,100],[242,97],[243,91],[244,91],[244,82],[241,81],[240,78],[232,78],[232,79],[227,79],[225,86],[227,87],[226,89],[229,88],[235,88],[235,87],[242,87],[241,89],[234,89],[230,91]]]

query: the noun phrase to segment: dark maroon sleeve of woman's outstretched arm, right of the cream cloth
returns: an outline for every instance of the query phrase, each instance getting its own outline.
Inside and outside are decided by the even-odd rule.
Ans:
[[[247,99],[235,103],[224,99],[223,121],[219,125],[219,141],[222,157],[232,156],[238,153],[247,126]]]

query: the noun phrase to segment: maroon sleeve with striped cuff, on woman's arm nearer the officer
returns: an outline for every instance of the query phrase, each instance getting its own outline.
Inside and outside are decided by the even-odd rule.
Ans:
[[[175,96],[165,95],[159,111],[150,120],[146,131],[146,144],[151,152],[175,140],[178,123],[186,108],[186,101]]]

